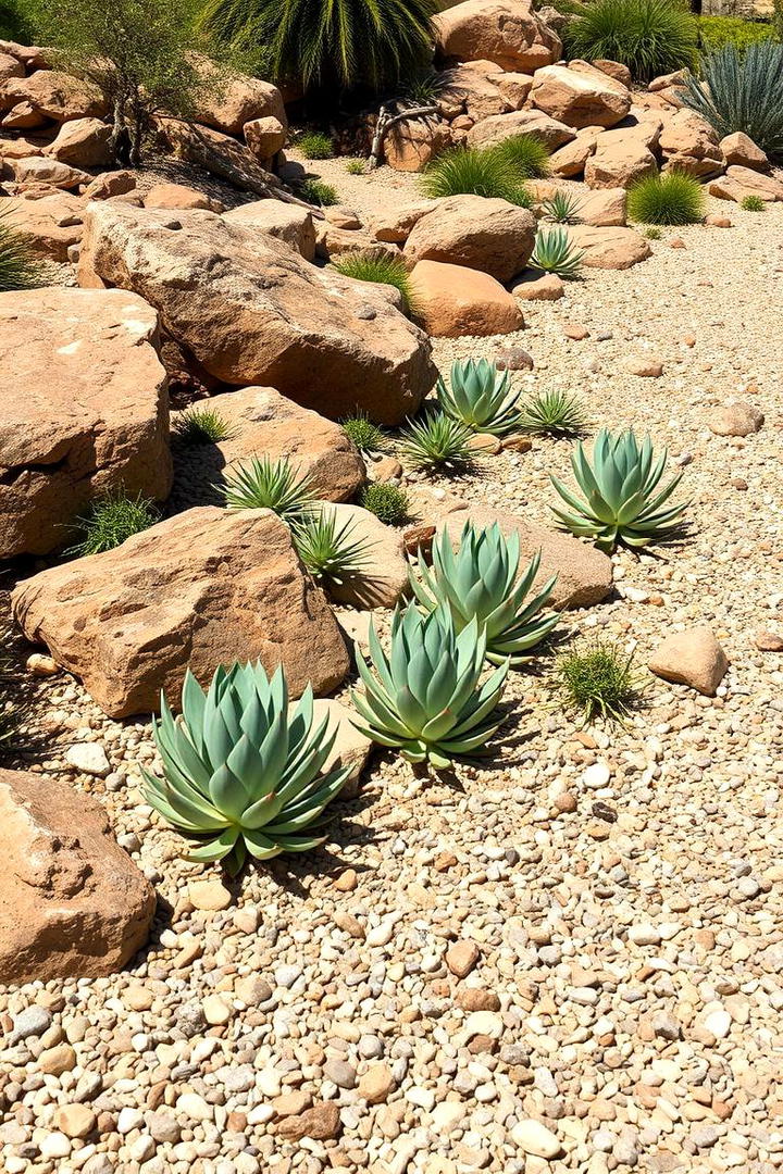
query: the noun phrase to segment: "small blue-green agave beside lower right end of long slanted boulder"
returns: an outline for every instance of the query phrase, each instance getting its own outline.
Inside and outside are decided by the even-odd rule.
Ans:
[[[519,392],[509,386],[509,372],[498,371],[487,359],[457,359],[451,386],[438,378],[438,402],[447,416],[474,432],[505,436],[519,424]]]

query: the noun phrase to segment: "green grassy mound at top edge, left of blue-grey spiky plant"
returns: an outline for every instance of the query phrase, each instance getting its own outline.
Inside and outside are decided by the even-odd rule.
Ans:
[[[640,82],[696,61],[696,20],[679,0],[593,0],[576,12],[563,28],[568,58],[620,61]]]

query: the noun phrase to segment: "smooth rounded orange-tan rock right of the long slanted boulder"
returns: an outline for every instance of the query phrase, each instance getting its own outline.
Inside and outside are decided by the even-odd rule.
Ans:
[[[419,261],[411,279],[419,318],[436,338],[508,335],[525,324],[514,296],[477,269]]]

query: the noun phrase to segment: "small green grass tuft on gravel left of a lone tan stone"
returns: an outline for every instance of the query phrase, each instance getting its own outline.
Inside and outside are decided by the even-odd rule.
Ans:
[[[554,684],[563,703],[586,722],[623,722],[641,700],[634,656],[616,642],[595,640],[558,657]]]

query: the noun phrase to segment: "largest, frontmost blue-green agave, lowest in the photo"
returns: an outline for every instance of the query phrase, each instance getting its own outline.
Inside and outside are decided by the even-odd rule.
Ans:
[[[320,774],[337,731],[329,715],[313,729],[312,689],[289,714],[285,674],[261,663],[215,673],[207,693],[190,672],[182,716],[161,697],[153,721],[164,778],[144,771],[146,797],[164,819],[201,841],[190,861],[222,861],[232,875],[248,855],[270,861],[306,852],[326,838],[322,814],[350,767]]]

